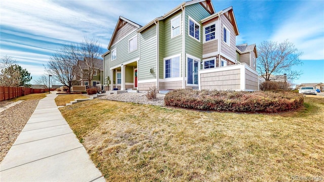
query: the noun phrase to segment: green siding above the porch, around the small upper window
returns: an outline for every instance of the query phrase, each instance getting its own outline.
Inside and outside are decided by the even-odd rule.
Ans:
[[[111,65],[110,65],[111,67],[120,66],[121,64],[123,64],[125,62],[139,58],[139,49],[129,53],[129,39],[137,34],[138,33],[135,31],[135,32],[131,33],[130,35],[121,39],[116,44],[111,46],[110,51],[112,51],[115,48],[117,51],[117,59],[111,61]],[[139,37],[140,37],[140,35],[137,36],[138,48],[139,48]]]

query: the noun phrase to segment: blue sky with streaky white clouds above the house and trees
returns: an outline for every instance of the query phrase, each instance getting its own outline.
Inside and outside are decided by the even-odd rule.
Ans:
[[[17,60],[34,83],[62,44],[95,37],[106,51],[119,16],[143,26],[182,2],[1,0],[0,55]],[[212,2],[217,12],[233,7],[236,44],[288,39],[304,53],[304,64],[294,67],[303,74],[294,83],[324,82],[324,1]]]

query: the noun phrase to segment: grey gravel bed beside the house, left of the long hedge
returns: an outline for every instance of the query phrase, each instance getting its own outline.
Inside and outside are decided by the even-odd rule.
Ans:
[[[157,98],[153,100],[148,100],[144,93],[123,93],[123,94],[111,94],[102,96],[99,99],[107,99],[111,101],[121,101],[121,102],[132,102],[137,104],[150,104],[156,106],[164,106],[164,94],[157,94]],[[143,96],[141,96],[143,95]]]

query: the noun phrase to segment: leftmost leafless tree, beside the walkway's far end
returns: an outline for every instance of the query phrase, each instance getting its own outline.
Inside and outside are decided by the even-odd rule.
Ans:
[[[64,44],[44,67],[55,80],[67,86],[70,91],[71,87],[76,84],[73,66],[77,64],[78,58],[76,45]]]

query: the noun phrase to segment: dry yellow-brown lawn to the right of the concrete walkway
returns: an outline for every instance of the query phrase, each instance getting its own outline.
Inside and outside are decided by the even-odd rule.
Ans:
[[[61,108],[109,181],[324,178],[324,99],[284,114],[197,112],[105,100]]]

